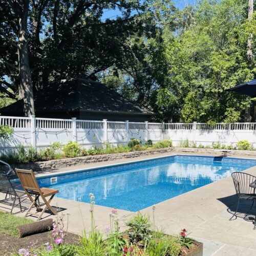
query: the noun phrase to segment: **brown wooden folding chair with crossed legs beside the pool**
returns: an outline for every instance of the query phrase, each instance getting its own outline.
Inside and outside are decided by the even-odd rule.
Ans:
[[[50,205],[53,197],[55,194],[59,192],[57,189],[47,188],[47,187],[39,187],[37,180],[35,178],[35,175],[33,173],[33,170],[23,170],[23,169],[17,169],[15,168],[15,172],[20,180],[20,183],[22,183],[22,186],[25,190],[25,193],[28,195],[30,201],[32,204],[30,205],[29,209],[26,212],[25,217],[28,216],[28,214],[36,215],[38,216],[37,221],[41,219],[44,212],[49,209],[54,215],[57,215],[56,210]],[[32,195],[35,195],[35,198],[32,197]],[[50,197],[49,200],[46,199],[46,197]],[[45,207],[41,208],[37,202],[39,197],[42,198],[42,200],[45,202]],[[40,212],[31,212],[32,208],[36,208]]]

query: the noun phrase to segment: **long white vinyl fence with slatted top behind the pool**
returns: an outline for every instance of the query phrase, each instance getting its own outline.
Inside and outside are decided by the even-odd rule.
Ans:
[[[256,123],[151,123],[114,122],[72,119],[51,119],[31,117],[0,116],[0,125],[9,125],[14,133],[8,140],[0,140],[1,148],[12,148],[19,144],[46,147],[59,141],[77,141],[89,148],[105,141],[113,144],[127,143],[131,138],[142,142],[171,139],[174,146],[181,141],[197,142],[197,145],[211,145],[220,142],[229,145],[247,139],[256,146]]]

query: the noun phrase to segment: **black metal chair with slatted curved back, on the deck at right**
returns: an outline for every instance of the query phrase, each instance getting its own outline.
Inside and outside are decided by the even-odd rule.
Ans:
[[[241,173],[234,172],[231,174],[231,177],[233,179],[234,187],[236,189],[236,193],[238,197],[238,205],[237,205],[236,211],[234,212],[234,214],[229,220],[231,221],[232,218],[236,216],[241,199],[252,201],[251,207],[246,212],[245,217],[248,215],[253,204],[255,203],[255,218],[254,218],[254,227],[253,227],[253,229],[255,229],[256,228],[256,194],[255,194],[255,187],[250,185],[256,181],[256,177],[243,172]]]

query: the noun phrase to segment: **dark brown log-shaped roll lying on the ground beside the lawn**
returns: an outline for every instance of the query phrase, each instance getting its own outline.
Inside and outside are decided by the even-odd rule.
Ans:
[[[32,234],[47,232],[53,228],[53,219],[37,221],[31,224],[17,226],[19,237],[24,238]]]

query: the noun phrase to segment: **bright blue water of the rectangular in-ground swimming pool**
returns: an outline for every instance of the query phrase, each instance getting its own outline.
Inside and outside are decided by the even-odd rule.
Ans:
[[[51,184],[40,178],[40,186],[59,189],[60,198],[137,211],[176,197],[256,165],[255,160],[170,156],[136,163],[106,166],[60,175]]]

